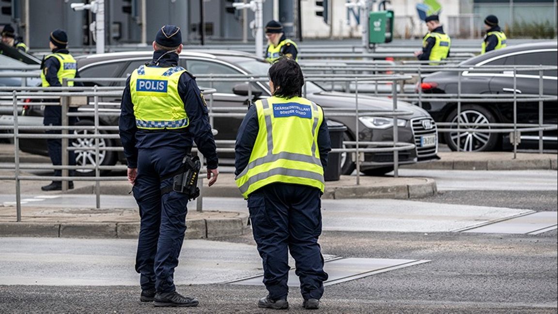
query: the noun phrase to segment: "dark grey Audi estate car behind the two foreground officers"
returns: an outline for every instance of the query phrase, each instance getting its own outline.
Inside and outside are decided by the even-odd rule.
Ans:
[[[138,66],[151,60],[152,53],[148,51],[136,51],[126,53],[97,54],[81,56],[76,58],[78,61],[79,72],[83,78],[126,78]],[[180,65],[194,75],[200,74],[251,74],[259,77],[266,77],[269,63],[256,56],[230,51],[230,50],[210,50],[210,51],[186,51],[180,54]],[[201,81],[201,80],[200,80]],[[85,85],[113,86],[124,85],[124,82],[88,82]],[[246,91],[248,83],[225,82],[214,80],[209,82],[198,82],[202,87],[215,88],[217,93],[213,95],[214,107],[239,107],[249,103]],[[255,99],[270,96],[267,83],[254,83],[251,87]],[[328,108],[346,108],[354,111],[355,96],[349,93],[325,92],[324,89],[312,82],[306,82],[307,98],[320,104],[324,108],[326,117],[330,120],[343,123],[348,127],[345,132],[345,140],[355,139],[356,122],[355,117],[336,117]],[[120,97],[103,97],[100,102],[119,103]],[[38,107],[38,106],[35,106]],[[86,111],[92,108],[81,107],[80,110]],[[371,96],[359,96],[359,108],[363,111],[389,111],[392,108],[392,100],[388,98],[378,98]],[[410,103],[398,102],[398,108],[412,112],[411,115],[401,116],[398,119],[399,140],[402,142],[417,145],[416,149],[400,151],[399,160],[401,164],[412,164],[417,161],[427,161],[437,159],[437,132],[436,125],[430,115],[419,107]],[[116,111],[118,107],[104,108],[105,111]],[[27,118],[36,116],[36,124],[40,125],[40,110],[26,111]],[[100,116],[101,125],[117,125],[118,117]],[[386,116],[360,117],[359,139],[360,141],[391,141],[392,140],[392,118]],[[213,127],[219,131],[215,136],[217,140],[233,140],[236,137],[238,127],[242,121],[241,117],[214,117]],[[1,122],[1,119],[0,119]],[[29,123],[29,122],[27,122]],[[92,119],[81,118],[79,125],[93,125]],[[77,152],[76,161],[78,164],[94,164],[95,156],[93,150],[93,140],[87,138],[87,131],[80,131],[84,139],[76,141],[74,146],[83,148]],[[100,146],[118,146],[118,140],[102,139]],[[233,147],[232,145],[229,145]],[[22,139],[20,147],[23,151],[45,155],[47,153],[44,141]],[[123,154],[117,151],[101,150],[100,160],[102,165],[113,165],[118,160],[125,162]],[[231,164],[234,154],[219,154],[220,160],[224,164]],[[342,171],[350,174],[355,168],[353,158],[350,154],[344,154],[341,158]],[[361,166],[365,174],[385,174],[393,170],[393,153],[365,153],[364,161]]]

